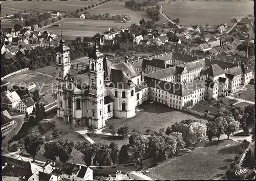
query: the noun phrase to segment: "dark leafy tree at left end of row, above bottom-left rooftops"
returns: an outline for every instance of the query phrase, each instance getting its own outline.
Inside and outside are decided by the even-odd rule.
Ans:
[[[42,144],[44,144],[44,141],[41,138],[41,134],[37,131],[33,131],[24,138],[25,150],[33,158],[33,162],[35,162],[35,157]]]

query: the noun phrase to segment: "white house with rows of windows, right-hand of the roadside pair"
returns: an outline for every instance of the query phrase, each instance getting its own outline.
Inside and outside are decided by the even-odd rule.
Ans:
[[[19,103],[16,105],[16,111],[24,114],[31,114],[33,111],[34,104],[34,100],[30,97],[20,100]]]

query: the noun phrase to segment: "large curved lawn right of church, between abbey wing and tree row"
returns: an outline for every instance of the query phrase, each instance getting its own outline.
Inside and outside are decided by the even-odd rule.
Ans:
[[[109,132],[108,126],[113,124],[116,129],[125,124],[129,125],[130,133],[132,130],[136,129],[141,133],[145,130],[151,129],[152,131],[158,131],[161,128],[166,128],[167,126],[172,126],[175,122],[180,122],[185,119],[200,119],[202,123],[207,123],[207,121],[199,116],[188,114],[177,109],[168,107],[167,105],[158,103],[143,103],[137,107],[136,116],[129,119],[123,118],[113,118],[106,121],[106,128],[104,132]]]

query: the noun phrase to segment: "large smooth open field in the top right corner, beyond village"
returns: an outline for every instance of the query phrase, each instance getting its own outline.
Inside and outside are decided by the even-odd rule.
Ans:
[[[169,18],[179,18],[181,25],[219,25],[230,22],[236,16],[253,14],[253,1],[176,1],[163,5]],[[161,16],[160,23],[166,22]]]

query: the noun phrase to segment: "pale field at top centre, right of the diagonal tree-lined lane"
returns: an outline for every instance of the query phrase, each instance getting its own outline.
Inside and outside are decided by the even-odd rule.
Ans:
[[[141,1],[141,2],[143,2],[143,1]],[[145,12],[132,11],[131,9],[126,8],[124,6],[124,4],[125,4],[125,1],[114,1],[114,2],[111,2],[104,6],[101,6],[101,7],[95,8],[95,9],[91,9],[88,12],[90,12],[91,14],[110,13],[111,16],[112,15],[113,16],[120,15],[120,14],[129,15],[131,18],[130,21],[135,24],[138,23],[140,21],[140,19],[147,18]],[[131,24],[127,24],[126,26],[130,26],[130,25]]]

